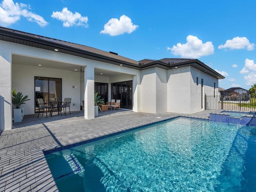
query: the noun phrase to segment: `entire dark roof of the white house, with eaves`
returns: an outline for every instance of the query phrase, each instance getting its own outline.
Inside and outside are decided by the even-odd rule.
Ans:
[[[107,62],[110,64],[120,65],[122,64],[128,68],[134,68],[137,70],[144,70],[147,68],[159,67],[163,69],[174,69],[184,66],[192,66],[205,72],[218,79],[224,79],[225,77],[204,64],[197,59],[183,59],[183,58],[164,58],[161,60],[144,59],[141,61],[135,61],[114,52],[106,52],[96,48],[66,42],[58,39],[48,38],[35,34],[30,34],[18,30],[0,27],[0,40],[23,44],[26,46],[32,46],[36,48],[42,48],[50,51],[58,49],[58,52],[64,54],[70,54],[82,58],[88,58],[91,60],[97,60],[101,62]]]

